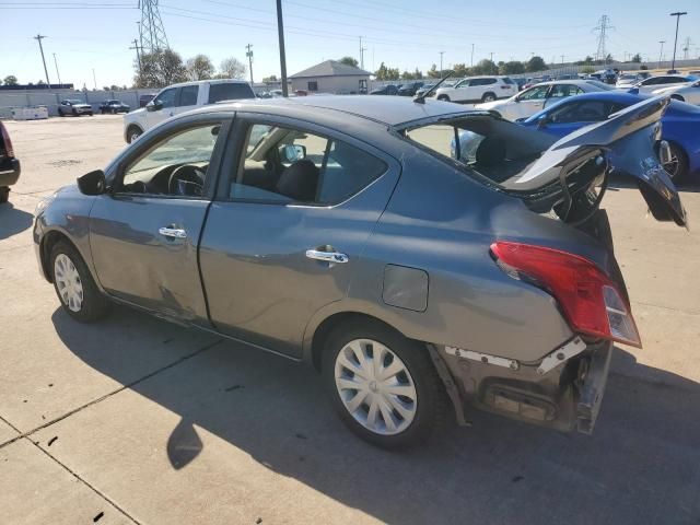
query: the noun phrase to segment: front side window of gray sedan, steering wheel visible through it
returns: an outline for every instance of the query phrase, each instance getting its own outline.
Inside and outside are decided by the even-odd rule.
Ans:
[[[201,196],[220,127],[197,126],[159,141],[124,171],[119,191]]]

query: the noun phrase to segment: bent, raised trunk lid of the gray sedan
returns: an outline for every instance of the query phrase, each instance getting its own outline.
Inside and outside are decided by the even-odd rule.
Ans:
[[[686,210],[657,154],[664,148],[660,120],[669,102],[650,98],[563,137],[501,187],[549,208],[562,197],[570,209],[576,189],[587,191],[602,172],[614,171],[637,184],[656,220],[687,228]]]

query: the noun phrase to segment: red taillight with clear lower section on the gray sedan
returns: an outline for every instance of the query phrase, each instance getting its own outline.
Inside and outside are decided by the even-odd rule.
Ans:
[[[510,277],[549,291],[574,331],[641,347],[629,304],[610,278],[588,259],[506,241],[493,243],[491,253]]]

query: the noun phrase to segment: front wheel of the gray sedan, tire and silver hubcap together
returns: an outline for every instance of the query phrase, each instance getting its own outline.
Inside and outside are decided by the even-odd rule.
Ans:
[[[85,261],[70,243],[56,243],[50,262],[54,289],[68,315],[82,323],[107,315],[109,300],[100,291]]]

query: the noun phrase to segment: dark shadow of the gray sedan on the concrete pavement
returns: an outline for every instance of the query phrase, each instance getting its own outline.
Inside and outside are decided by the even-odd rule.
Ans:
[[[118,307],[104,323],[128,329],[142,315]],[[118,340],[95,345],[105,326],[80,325],[61,310],[52,322],[71,352],[122,384],[149,351]],[[184,330],[173,326],[172,337]],[[315,371],[234,342],[130,388],[179,416],[162,452],[174,469],[206,453],[196,427],[203,428],[386,523],[700,522],[700,384],[621,349],[592,436],[475,412],[471,428],[450,422],[424,446],[400,453],[348,432]]]

